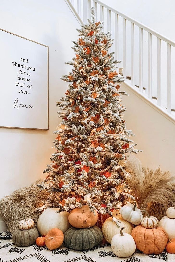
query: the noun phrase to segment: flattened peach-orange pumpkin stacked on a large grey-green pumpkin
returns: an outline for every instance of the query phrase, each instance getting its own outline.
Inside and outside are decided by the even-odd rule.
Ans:
[[[95,215],[90,211],[88,205],[84,205],[81,208],[74,208],[69,216],[69,223],[76,228],[92,227],[97,223],[98,213],[95,211]]]

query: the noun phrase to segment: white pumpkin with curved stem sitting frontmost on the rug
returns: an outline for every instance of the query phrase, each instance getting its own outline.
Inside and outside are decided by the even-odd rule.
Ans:
[[[121,228],[120,234],[113,236],[111,240],[112,252],[119,258],[131,256],[136,250],[136,244],[128,233],[123,233],[124,227]]]

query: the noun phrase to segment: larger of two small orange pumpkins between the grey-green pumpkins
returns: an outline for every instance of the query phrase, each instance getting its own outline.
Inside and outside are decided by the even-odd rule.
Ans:
[[[50,250],[59,248],[64,241],[64,234],[58,228],[52,228],[45,236],[46,247]]]

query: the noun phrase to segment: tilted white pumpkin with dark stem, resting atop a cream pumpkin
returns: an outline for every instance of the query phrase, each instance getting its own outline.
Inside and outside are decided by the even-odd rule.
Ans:
[[[143,219],[143,215],[140,209],[137,208],[136,202],[134,205],[127,203],[120,209],[122,217],[134,225],[139,225]]]

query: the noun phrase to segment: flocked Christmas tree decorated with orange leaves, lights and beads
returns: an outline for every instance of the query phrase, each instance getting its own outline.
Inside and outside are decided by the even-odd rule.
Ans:
[[[80,38],[74,43],[75,58],[67,62],[72,72],[62,79],[70,82],[61,108],[62,122],[54,132],[55,154],[44,171],[49,172],[40,185],[50,191],[45,208],[69,211],[89,205],[91,211],[112,214],[127,198],[132,198],[125,182],[125,154],[139,152],[128,139],[133,135],[123,119],[120,83],[116,73],[111,33],[105,34],[103,23],[92,22],[77,29]],[[117,221],[116,221],[117,222]]]

